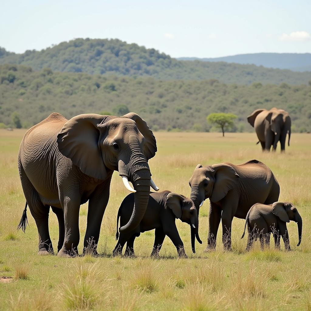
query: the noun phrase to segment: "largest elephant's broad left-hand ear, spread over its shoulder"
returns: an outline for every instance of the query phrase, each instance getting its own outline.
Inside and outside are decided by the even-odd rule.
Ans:
[[[106,179],[107,171],[99,148],[99,123],[107,116],[99,114],[80,114],[68,120],[57,136],[59,151],[72,160],[81,172],[97,178]]]

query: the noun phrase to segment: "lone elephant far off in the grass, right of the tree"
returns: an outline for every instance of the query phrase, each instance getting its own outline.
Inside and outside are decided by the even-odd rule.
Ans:
[[[271,146],[276,150],[277,142],[281,143],[281,151],[285,151],[286,134],[290,145],[291,120],[283,109],[257,109],[247,117],[248,123],[255,128],[262,150],[269,151]]]

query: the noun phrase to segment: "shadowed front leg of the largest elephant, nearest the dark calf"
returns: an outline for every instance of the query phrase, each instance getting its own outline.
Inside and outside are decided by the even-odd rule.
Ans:
[[[109,200],[110,180],[96,187],[89,200],[87,211],[87,225],[84,238],[83,253],[97,256],[97,245],[100,235],[100,226]]]

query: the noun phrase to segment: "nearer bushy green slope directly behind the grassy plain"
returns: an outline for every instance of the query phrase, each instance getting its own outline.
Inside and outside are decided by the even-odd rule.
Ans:
[[[224,84],[218,80],[163,81],[87,73],[32,71],[0,65],[0,123],[16,118],[29,128],[56,111],[66,118],[82,113],[137,112],[153,130],[208,131],[213,112],[236,114],[236,131],[251,131],[246,117],[258,108],[287,110],[292,131],[311,131],[311,85]],[[4,126],[2,124],[2,126]]]

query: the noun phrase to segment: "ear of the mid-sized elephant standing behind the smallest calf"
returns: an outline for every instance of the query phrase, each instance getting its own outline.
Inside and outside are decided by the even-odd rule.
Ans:
[[[238,181],[239,175],[235,169],[228,164],[215,164],[211,165],[214,170],[214,186],[211,195],[212,202],[220,201],[229,190],[233,189]]]

